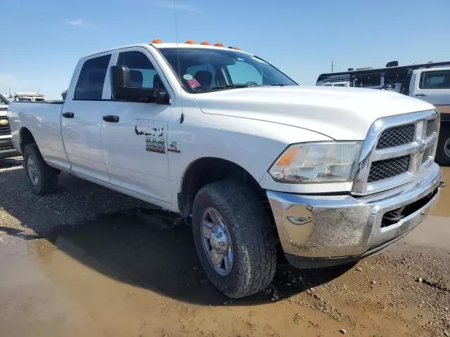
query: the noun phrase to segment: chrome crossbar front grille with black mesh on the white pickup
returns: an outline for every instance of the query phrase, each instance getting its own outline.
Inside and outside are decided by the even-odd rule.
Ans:
[[[371,126],[352,193],[364,195],[402,185],[428,169],[439,131],[434,110],[380,119]]]

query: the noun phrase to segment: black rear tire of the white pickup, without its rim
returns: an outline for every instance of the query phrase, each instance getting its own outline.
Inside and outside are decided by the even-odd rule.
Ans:
[[[36,185],[32,183],[32,178],[30,178],[30,173],[28,170],[30,158],[34,160],[37,168],[38,180]],[[46,164],[36,144],[25,145],[25,150],[23,152],[23,163],[25,173],[27,174],[28,181],[30,182],[31,189],[34,194],[48,194],[56,190],[58,170],[53,169],[53,167]]]

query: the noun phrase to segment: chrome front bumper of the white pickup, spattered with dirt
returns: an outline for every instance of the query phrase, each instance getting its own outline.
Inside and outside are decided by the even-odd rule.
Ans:
[[[364,257],[421,223],[439,198],[440,182],[441,171],[433,163],[411,183],[366,197],[274,191],[268,191],[267,197],[287,256],[313,260]],[[411,213],[382,226],[385,213],[407,205]]]

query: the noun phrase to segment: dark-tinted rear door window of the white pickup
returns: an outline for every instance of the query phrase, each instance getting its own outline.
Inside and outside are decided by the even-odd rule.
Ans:
[[[104,55],[84,62],[75,86],[74,100],[101,100],[110,58],[111,55]]]

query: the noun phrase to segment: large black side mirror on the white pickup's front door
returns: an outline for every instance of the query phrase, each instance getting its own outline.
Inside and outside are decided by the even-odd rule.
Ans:
[[[129,68],[113,65],[111,68],[111,93],[115,100],[131,102],[155,102],[155,90],[152,88],[136,88],[132,86]]]

